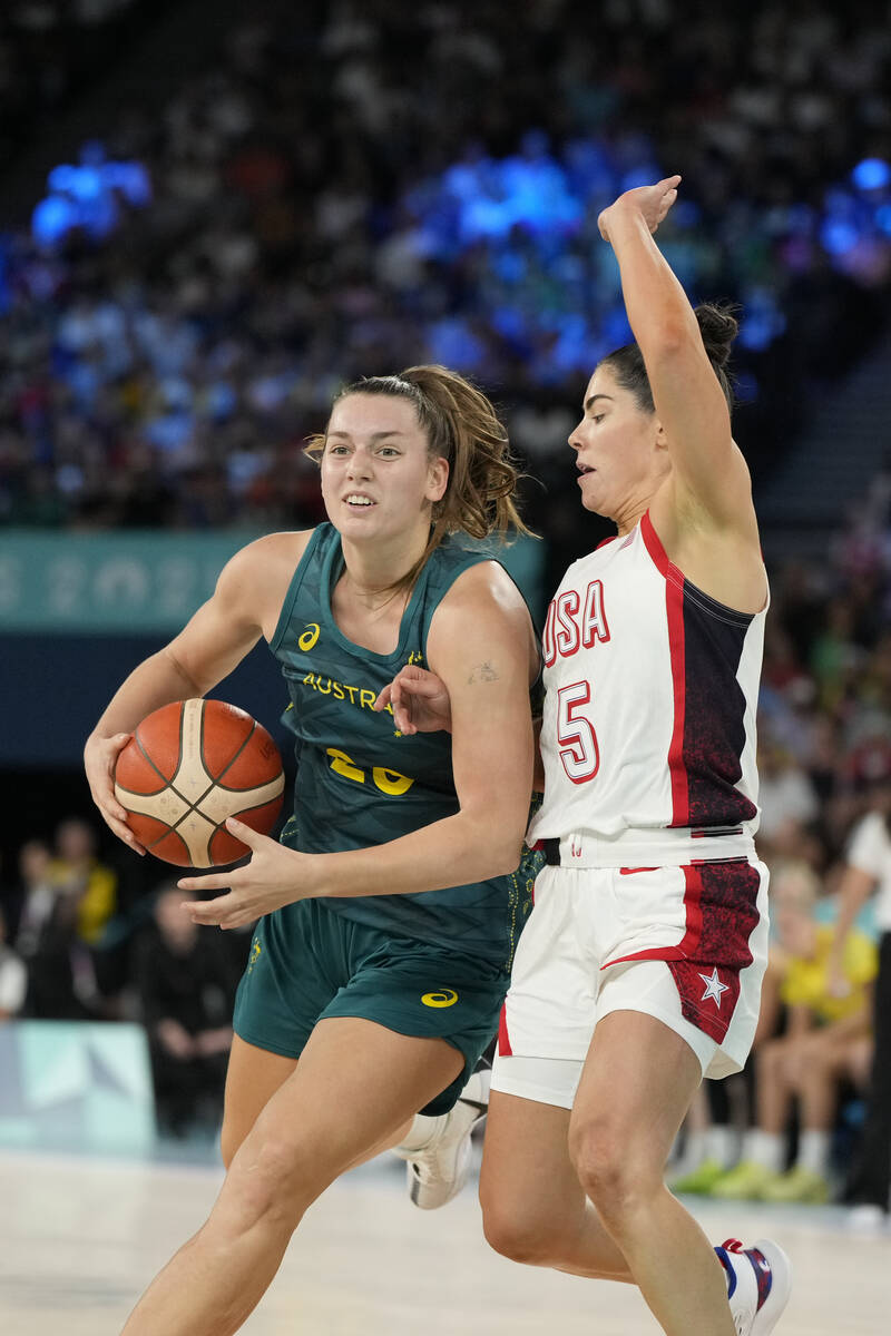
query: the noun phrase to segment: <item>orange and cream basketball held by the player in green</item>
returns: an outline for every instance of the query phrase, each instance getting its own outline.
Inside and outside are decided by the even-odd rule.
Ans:
[[[282,810],[285,775],[262,724],[222,700],[176,700],[143,719],[118,758],[115,796],[150,854],[218,867],[247,854],[226,830],[238,816],[263,835]]]

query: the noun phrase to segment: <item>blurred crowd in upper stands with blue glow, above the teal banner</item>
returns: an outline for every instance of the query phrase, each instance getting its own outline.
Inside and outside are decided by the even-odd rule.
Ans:
[[[533,525],[572,541],[566,434],[628,334],[597,214],[676,168],[664,246],[695,297],[743,305],[761,474],[886,318],[890,32],[878,0],[530,0],[522,24],[258,0],[85,150],[144,170],[147,207],[118,191],[111,232],[0,243],[0,524],[311,522],[297,446],[337,386],[438,359],[494,394],[546,484]]]

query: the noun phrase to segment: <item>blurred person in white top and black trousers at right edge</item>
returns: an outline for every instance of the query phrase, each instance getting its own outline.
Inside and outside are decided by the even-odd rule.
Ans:
[[[830,959],[830,982],[844,998],[844,959],[856,929],[852,927],[866,899],[876,892],[875,922],[879,930],[879,975],[875,987],[875,1057],[870,1073],[867,1118],[847,1200],[858,1220],[880,1225],[891,1209],[891,782],[876,786],[870,811],[856,826],[846,855],[839,891],[839,919]]]

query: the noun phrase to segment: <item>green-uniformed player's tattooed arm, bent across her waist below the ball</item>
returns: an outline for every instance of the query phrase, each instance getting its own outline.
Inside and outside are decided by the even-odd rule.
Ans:
[[[427,659],[452,700],[460,811],[386,844],[338,854],[283,848],[239,827],[254,851],[247,867],[179,883],[186,891],[230,888],[190,904],[195,922],[238,927],[298,899],[407,895],[517,867],[532,790],[537,649],[522,597],[500,566],[485,562],[456,581],[434,615]]]

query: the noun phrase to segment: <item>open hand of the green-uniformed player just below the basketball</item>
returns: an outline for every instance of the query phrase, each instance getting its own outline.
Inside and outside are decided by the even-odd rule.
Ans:
[[[226,828],[230,835],[247,844],[251,860],[232,872],[186,876],[176,883],[180,891],[228,890],[227,895],[218,895],[212,900],[186,900],[183,908],[192,923],[215,923],[222,929],[244,927],[263,914],[305,899],[306,878],[301,872],[309,871],[311,855],[285,848],[278,840],[259,835],[234,816],[228,818]]]

